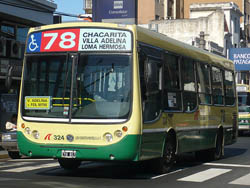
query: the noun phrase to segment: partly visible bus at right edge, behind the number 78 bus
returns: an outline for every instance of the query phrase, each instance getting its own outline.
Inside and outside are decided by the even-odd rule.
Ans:
[[[247,84],[237,84],[236,90],[238,93],[239,105],[239,135],[250,131],[250,88]]]

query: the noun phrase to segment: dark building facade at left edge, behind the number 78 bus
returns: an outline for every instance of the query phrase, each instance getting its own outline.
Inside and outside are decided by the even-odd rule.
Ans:
[[[0,1],[0,132],[17,113],[25,41],[30,27],[53,23],[48,0]]]

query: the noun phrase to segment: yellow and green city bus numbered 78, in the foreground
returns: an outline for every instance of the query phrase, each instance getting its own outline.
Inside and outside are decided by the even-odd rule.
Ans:
[[[139,27],[63,23],[31,28],[23,63],[18,146],[23,155],[146,164],[216,160],[237,140],[231,61]],[[138,163],[137,163],[138,162]]]

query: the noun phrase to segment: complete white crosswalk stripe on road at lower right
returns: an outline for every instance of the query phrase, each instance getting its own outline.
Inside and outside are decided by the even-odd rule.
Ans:
[[[231,170],[232,169],[210,168],[208,170],[178,179],[178,181],[204,182],[216,176],[230,172]]]

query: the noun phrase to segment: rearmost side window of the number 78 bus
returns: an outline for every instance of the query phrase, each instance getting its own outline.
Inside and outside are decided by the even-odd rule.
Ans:
[[[231,71],[225,71],[225,103],[226,105],[234,105],[235,104],[235,82],[234,82],[234,74]]]

